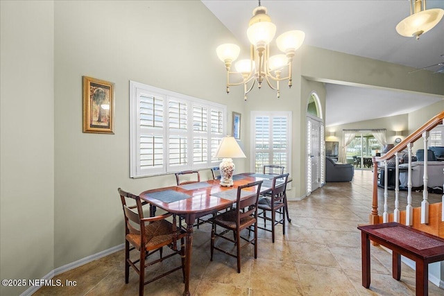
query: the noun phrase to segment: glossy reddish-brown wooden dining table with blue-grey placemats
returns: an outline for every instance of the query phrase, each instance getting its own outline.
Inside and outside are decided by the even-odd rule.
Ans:
[[[185,290],[189,292],[189,276],[191,273],[191,250],[193,247],[193,225],[197,218],[228,209],[236,202],[237,187],[263,180],[260,193],[271,191],[272,179],[275,175],[259,173],[241,173],[233,176],[234,186],[224,187],[220,180],[191,183],[179,186],[169,186],[151,189],[140,193],[140,198],[150,204],[151,215],[160,208],[185,219],[187,237],[185,245]],[[287,201],[286,201],[287,202]],[[288,211],[287,211],[287,218]]]

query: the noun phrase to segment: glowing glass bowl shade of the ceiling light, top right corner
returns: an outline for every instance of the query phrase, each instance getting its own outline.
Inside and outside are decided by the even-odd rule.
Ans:
[[[398,34],[405,37],[412,37],[415,33],[426,33],[432,29],[443,18],[444,10],[440,8],[427,9],[421,12],[416,12],[409,17],[406,17],[398,26],[396,31]],[[418,35],[420,35],[418,34]]]

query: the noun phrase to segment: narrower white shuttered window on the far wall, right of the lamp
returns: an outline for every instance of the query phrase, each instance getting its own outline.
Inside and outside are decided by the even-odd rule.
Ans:
[[[291,172],[291,112],[251,112],[251,169],[262,173],[266,164]]]

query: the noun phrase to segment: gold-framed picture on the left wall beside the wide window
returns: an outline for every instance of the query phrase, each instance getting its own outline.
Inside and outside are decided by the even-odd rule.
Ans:
[[[83,76],[83,132],[114,134],[114,83]]]

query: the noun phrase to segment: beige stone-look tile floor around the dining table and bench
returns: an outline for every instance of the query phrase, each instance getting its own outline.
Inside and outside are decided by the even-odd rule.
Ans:
[[[371,172],[356,170],[352,182],[327,183],[289,202],[292,222],[285,236],[278,227],[273,244],[271,233],[259,230],[258,258],[252,247],[245,248],[240,274],[230,256],[215,251],[210,261],[210,225],[201,226],[194,232],[191,295],[415,295],[415,272],[403,263],[401,280],[395,281],[391,255],[381,247],[372,246],[370,289],[361,286],[357,225],[368,222],[371,190]],[[76,281],[75,287],[43,287],[34,295],[137,295],[133,270],[130,283],[124,282],[123,256],[119,251],[54,278]],[[182,295],[183,288],[182,272],[174,272],[145,286],[145,295]],[[429,283],[429,295],[444,290]]]

